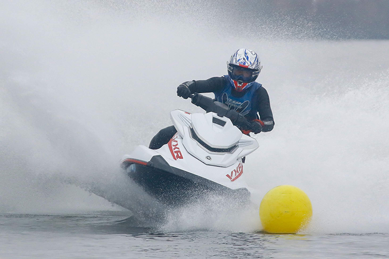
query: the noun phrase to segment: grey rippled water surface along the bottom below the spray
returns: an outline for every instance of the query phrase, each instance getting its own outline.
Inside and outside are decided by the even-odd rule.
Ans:
[[[383,258],[389,234],[274,235],[133,226],[124,212],[0,217],[0,258]]]

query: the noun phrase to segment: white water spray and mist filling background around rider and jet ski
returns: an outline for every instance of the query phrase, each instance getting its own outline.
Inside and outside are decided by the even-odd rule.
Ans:
[[[229,56],[249,48],[276,122],[245,164],[258,203],[295,185],[313,204],[308,232],[389,231],[389,42],[371,40],[387,38],[388,5],[0,2],[0,211],[121,210],[115,203],[157,215],[122,174],[122,155],[171,125],[171,110],[202,112],[177,86],[225,74]],[[256,211],[210,221],[204,208],[174,212],[164,230],[258,229]]]

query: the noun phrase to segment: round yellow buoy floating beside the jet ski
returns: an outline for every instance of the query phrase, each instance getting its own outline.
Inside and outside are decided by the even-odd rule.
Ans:
[[[297,233],[312,218],[312,204],[301,189],[281,185],[265,194],[259,207],[259,217],[265,232]]]

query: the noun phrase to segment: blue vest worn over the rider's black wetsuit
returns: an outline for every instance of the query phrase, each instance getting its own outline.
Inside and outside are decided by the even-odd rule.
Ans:
[[[234,109],[243,116],[251,117],[252,119],[255,119],[257,117],[257,111],[252,110],[252,97],[254,96],[255,91],[257,91],[258,88],[260,88],[262,85],[254,82],[247,90],[246,93],[243,94],[241,97],[235,97],[232,95],[232,86],[231,80],[229,75],[224,75],[224,78],[226,78],[226,84],[224,88],[220,91],[213,92],[215,94],[215,99],[225,105],[228,106],[228,108]]]

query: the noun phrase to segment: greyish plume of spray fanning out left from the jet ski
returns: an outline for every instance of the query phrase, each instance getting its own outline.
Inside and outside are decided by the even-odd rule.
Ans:
[[[13,107],[6,113],[8,122],[18,118],[23,125],[1,139],[0,151],[11,162],[0,164],[2,173],[21,175],[30,188],[75,185],[131,210],[140,220],[161,220],[164,206],[124,177],[118,160],[91,127],[33,87],[8,82],[2,91]],[[22,146],[15,145],[16,138]],[[31,182],[40,184],[32,187]]]

